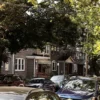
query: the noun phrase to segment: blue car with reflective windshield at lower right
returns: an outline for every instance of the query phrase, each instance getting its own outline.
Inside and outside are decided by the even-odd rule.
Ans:
[[[62,100],[92,100],[93,96],[99,95],[99,90],[95,78],[77,76],[56,93]]]

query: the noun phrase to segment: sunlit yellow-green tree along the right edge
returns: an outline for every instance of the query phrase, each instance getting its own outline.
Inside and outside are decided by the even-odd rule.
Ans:
[[[100,1],[99,0],[65,0],[74,9],[76,14],[70,16],[74,22],[78,22],[84,29],[85,41],[83,41],[84,51],[90,61],[95,61],[92,67],[96,69],[96,59],[100,55]],[[84,34],[84,33],[83,33]],[[94,62],[93,62],[94,63]],[[95,72],[96,73],[96,72]]]

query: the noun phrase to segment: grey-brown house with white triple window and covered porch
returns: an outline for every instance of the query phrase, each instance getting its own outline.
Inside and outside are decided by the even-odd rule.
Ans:
[[[8,62],[3,64],[3,74],[18,74],[23,78],[50,75],[50,46],[44,51],[39,49],[21,50],[17,54],[9,54]]]

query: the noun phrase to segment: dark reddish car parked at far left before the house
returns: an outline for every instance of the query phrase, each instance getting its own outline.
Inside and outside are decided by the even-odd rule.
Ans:
[[[0,83],[0,86],[24,86],[25,83],[23,79],[14,74],[7,74],[3,76],[3,80]]]

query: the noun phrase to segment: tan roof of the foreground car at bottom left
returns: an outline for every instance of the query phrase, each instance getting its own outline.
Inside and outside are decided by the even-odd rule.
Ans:
[[[17,86],[2,86],[0,87],[0,93],[12,93],[12,94],[28,94],[32,92],[44,91],[43,89],[30,88],[30,87],[17,87]]]

